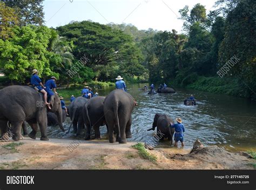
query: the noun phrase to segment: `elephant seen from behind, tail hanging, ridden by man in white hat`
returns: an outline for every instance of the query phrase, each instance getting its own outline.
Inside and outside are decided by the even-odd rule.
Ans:
[[[120,144],[127,143],[126,138],[131,138],[131,113],[137,103],[131,94],[116,89],[111,91],[104,100],[104,115],[109,127],[109,142],[119,141]],[[117,137],[114,137],[114,133]]]

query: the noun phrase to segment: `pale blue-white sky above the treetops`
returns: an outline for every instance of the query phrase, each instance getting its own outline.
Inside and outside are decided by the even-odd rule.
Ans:
[[[87,21],[107,24],[133,24],[139,30],[175,29],[181,32],[183,21],[179,10],[188,5],[205,6],[207,13],[213,10],[217,0],[45,0],[45,25],[56,28],[71,21]]]

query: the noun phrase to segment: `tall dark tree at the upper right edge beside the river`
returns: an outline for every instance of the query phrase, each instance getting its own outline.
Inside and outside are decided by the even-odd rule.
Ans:
[[[223,66],[233,56],[240,59],[229,73],[241,79],[241,84],[251,95],[256,89],[255,8],[255,1],[244,0],[228,12],[225,35],[219,49],[219,67]]]

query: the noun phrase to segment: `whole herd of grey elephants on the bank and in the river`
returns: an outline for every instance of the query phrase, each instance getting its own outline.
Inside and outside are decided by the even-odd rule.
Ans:
[[[171,88],[166,88],[165,91],[162,93],[175,93]],[[2,139],[11,137],[15,141],[21,140],[22,128],[23,135],[28,134],[25,121],[32,128],[28,134],[32,139],[36,139],[36,133],[40,130],[41,140],[49,140],[46,130],[48,125],[59,125],[60,130],[65,131],[63,122],[66,113],[56,93],[51,96],[49,102],[51,110],[44,105],[42,94],[29,86],[5,87],[0,90],[0,99]],[[106,125],[109,142],[124,144],[127,138],[132,137],[131,114],[136,105],[136,100],[131,94],[119,89],[111,91],[106,97],[96,96],[90,99],[77,97],[68,107],[70,127],[73,125],[73,133],[80,135],[86,126],[85,140],[90,140],[92,127],[95,131],[95,139],[100,139],[99,127]],[[151,130],[157,127],[157,132],[161,131],[165,134],[163,139],[172,141],[174,130],[169,127],[170,121],[173,123],[173,120],[165,114],[156,114]]]

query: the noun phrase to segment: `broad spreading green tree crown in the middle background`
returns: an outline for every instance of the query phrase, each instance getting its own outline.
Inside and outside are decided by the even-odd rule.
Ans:
[[[89,59],[86,65],[100,81],[123,73],[134,76],[145,72],[142,53],[132,37],[121,30],[113,32],[110,26],[89,21],[60,26],[57,30],[73,42],[77,60],[84,55]]]

